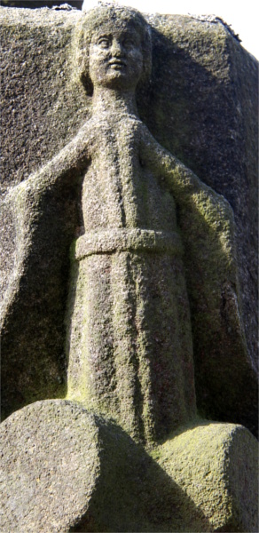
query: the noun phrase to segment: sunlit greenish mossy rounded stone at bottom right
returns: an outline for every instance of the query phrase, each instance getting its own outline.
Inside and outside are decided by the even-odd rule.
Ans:
[[[152,456],[208,517],[208,530],[258,530],[258,445],[247,429],[201,421]]]

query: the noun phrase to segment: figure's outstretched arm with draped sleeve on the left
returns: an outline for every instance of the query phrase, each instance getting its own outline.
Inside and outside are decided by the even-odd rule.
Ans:
[[[90,162],[93,138],[94,131],[90,123],[87,123],[58,155],[19,185],[12,187],[2,200],[0,211],[3,209],[6,219],[9,220],[6,231],[15,235],[11,238],[15,238],[16,259],[8,274],[8,287],[4,293],[0,321],[7,316],[8,308],[12,306],[15,295],[20,290],[20,278],[34,249],[35,239],[38,238],[38,228],[44,224],[48,213],[55,219],[53,212],[49,211],[50,196],[56,195],[60,202],[64,198],[65,203],[67,195],[69,197],[72,192],[73,196],[73,188],[80,184]]]

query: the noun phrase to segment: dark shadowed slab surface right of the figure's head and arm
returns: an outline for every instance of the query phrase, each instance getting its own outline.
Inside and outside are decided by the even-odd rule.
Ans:
[[[155,27],[153,91],[147,111],[143,111],[145,122],[163,146],[224,195],[232,206],[238,246],[240,312],[249,357],[256,365],[257,61],[221,24],[161,15],[150,20]],[[162,38],[156,30],[161,32]],[[172,95],[170,99],[168,94]],[[150,113],[152,108],[154,112]],[[223,406],[216,405],[215,400],[221,394],[224,398],[226,390],[220,386],[219,375],[219,369],[225,367],[220,349],[223,339],[213,327],[209,336],[208,329],[207,333],[200,331],[199,315],[207,313],[209,298],[198,296],[200,283],[204,282],[199,263],[191,264],[190,269],[192,275],[196,273],[195,281],[187,275],[190,284],[194,282],[189,295],[197,402],[204,413],[218,417],[220,412],[222,417]],[[223,290],[221,315],[229,305],[225,305],[224,298]],[[232,324],[228,327],[232,328]],[[227,351],[230,367],[226,374],[236,367],[235,355],[231,352]],[[229,390],[234,381],[235,378],[229,380]],[[240,395],[243,385],[239,382],[233,394]]]

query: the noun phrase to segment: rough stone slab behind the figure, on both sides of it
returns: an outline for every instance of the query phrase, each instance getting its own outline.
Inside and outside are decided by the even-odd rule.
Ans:
[[[80,12],[3,8],[1,16],[5,193],[75,136],[88,116],[90,97],[72,76],[71,36]],[[204,258],[209,256],[200,245],[204,234],[188,240],[187,229],[191,223],[195,233],[196,223],[191,217],[190,222],[181,203],[177,205],[178,222],[185,226],[184,265],[198,408],[208,416],[239,421],[255,431],[255,379],[241,337],[243,321],[253,357],[256,63],[220,23],[161,15],[148,20],[153,26],[153,75],[151,87],[139,91],[137,97],[140,115],[164,147],[229,200],[236,221],[241,322],[238,315],[233,319],[239,292],[236,278],[233,284],[217,284],[222,294],[211,307],[211,285],[206,280],[216,272],[217,252],[214,268],[208,267],[208,260],[204,267]],[[42,196],[31,220],[33,239],[23,235],[26,253],[26,246],[20,250],[18,244],[17,212],[8,202],[1,208],[6,414],[35,399],[66,394],[64,316],[69,246],[76,232],[81,232],[76,216],[78,187],[67,179]],[[213,320],[207,319],[210,308],[216,308]]]

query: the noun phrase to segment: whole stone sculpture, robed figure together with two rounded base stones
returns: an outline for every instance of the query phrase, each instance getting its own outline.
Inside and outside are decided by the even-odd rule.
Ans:
[[[39,442],[48,435],[43,461],[49,461],[51,469],[52,461],[61,457],[62,472],[52,475],[54,500],[50,480],[37,463],[30,481],[24,477],[26,495],[36,475],[42,483],[39,493],[35,484],[39,501],[34,510],[27,496],[19,499],[15,478],[11,489],[5,488],[4,527],[20,523],[27,530],[36,524],[43,531],[256,530],[255,500],[250,493],[243,497],[242,487],[236,487],[238,480],[241,486],[248,483],[251,492],[255,489],[254,437],[241,426],[197,418],[192,282],[186,286],[185,281],[197,240],[202,240],[199,257],[212,279],[200,291],[211,297],[210,321],[224,295],[223,323],[231,324],[237,356],[249,374],[242,348],[232,209],[161,147],[137,115],[137,84],[146,83],[151,68],[150,30],[142,15],[102,6],[80,21],[75,43],[82,83],[93,91],[90,118],[59,155],[13,187],[5,200],[15,206],[20,240],[28,243],[23,246],[26,264],[48,197],[59,195],[62,183],[72,184],[77,198],[66,319],[68,401],[33,403],[2,426],[7,439],[14,432],[20,442],[33,442],[32,454],[39,453]],[[231,398],[231,410],[234,404]],[[50,419],[59,449],[53,457]],[[69,419],[70,453],[75,457],[72,490],[75,494],[78,470],[82,491],[71,505],[64,493],[61,512],[56,502],[66,482],[61,449]],[[246,455],[247,447],[253,451]],[[227,451],[219,457],[218,449]],[[24,476],[31,465],[23,449],[12,452],[10,459],[4,455],[4,472],[10,464],[13,468],[17,453]],[[125,470],[125,480],[123,473],[122,487],[115,487],[129,457],[132,468]],[[65,456],[63,462],[67,465]],[[87,490],[83,476],[90,477]],[[204,484],[207,476],[210,481]],[[16,502],[14,514],[9,493]],[[114,504],[117,498],[120,509]],[[129,516],[123,514],[123,505]]]

